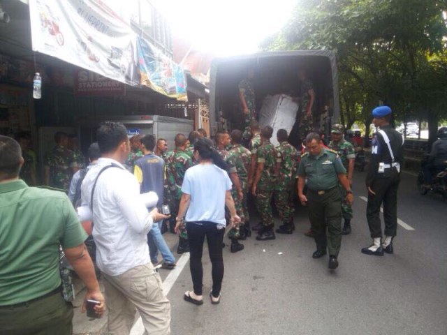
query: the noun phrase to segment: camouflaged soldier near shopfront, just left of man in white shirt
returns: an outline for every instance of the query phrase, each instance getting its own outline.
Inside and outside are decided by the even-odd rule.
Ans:
[[[73,151],[67,149],[68,135],[58,131],[54,134],[54,147],[47,155],[45,163],[45,185],[68,190],[73,174],[78,172],[78,163]]]

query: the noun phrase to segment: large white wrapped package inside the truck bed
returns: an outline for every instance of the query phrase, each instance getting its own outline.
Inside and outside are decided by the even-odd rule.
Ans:
[[[273,145],[278,145],[277,131],[281,128],[286,129],[290,134],[295,124],[298,104],[292,101],[290,96],[277,94],[266,96],[259,112],[259,125],[261,127],[272,126],[273,136],[270,139]]]

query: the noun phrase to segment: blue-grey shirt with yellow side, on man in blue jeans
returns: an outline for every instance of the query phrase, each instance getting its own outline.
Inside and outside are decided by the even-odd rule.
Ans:
[[[133,172],[140,183],[140,193],[149,191],[159,196],[158,207],[163,205],[163,181],[165,176],[165,162],[155,154],[147,154],[135,161]]]

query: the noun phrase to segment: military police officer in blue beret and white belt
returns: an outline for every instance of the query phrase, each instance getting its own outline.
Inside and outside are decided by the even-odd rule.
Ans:
[[[374,126],[380,130],[372,140],[371,160],[366,178],[368,204],[366,216],[372,245],[362,248],[367,255],[393,253],[393,238],[397,230],[397,188],[402,165],[402,135],[390,126],[392,111],[388,106],[372,111]],[[383,204],[385,238],[382,240],[380,209]]]

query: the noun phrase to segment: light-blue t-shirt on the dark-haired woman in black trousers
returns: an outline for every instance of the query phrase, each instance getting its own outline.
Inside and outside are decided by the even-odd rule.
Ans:
[[[231,186],[226,171],[214,164],[198,164],[186,170],[182,192],[191,195],[186,221],[226,225],[225,194]]]

